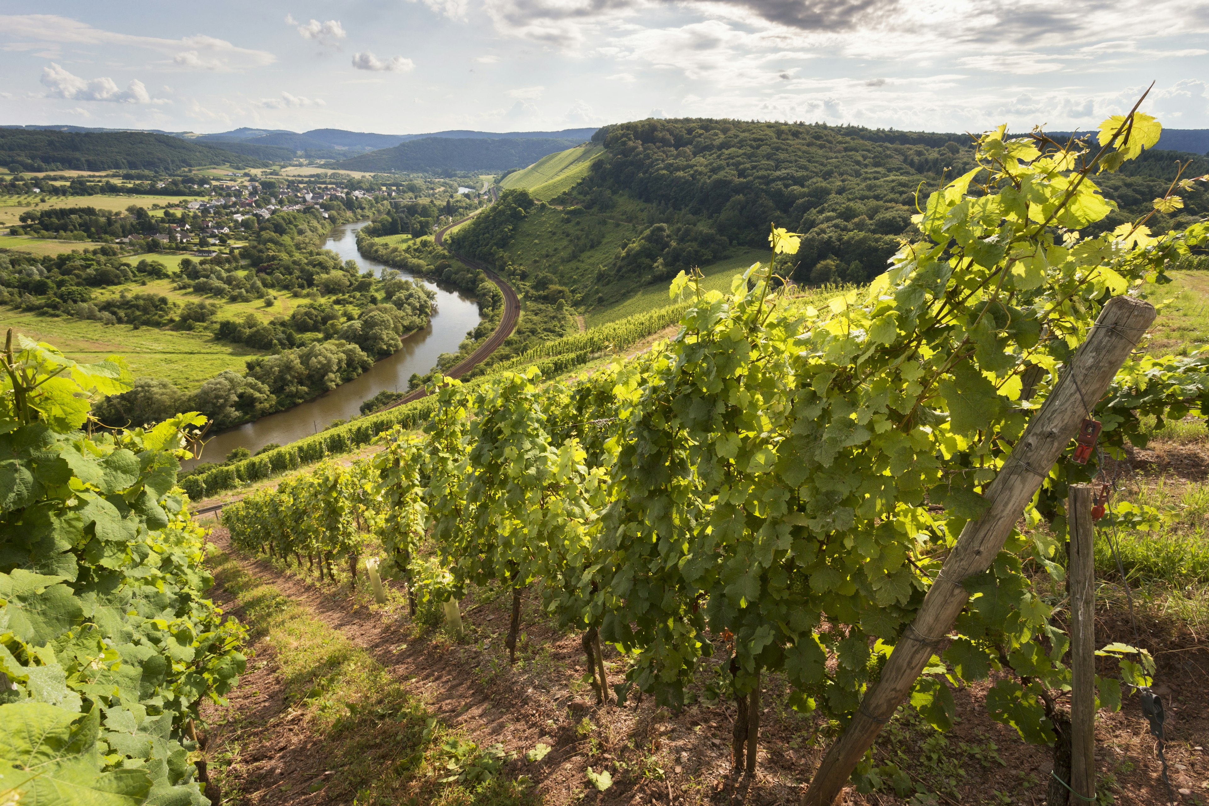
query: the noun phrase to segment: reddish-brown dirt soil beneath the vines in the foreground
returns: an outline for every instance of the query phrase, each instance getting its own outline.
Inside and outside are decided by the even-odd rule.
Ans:
[[[608,806],[794,804],[826,749],[825,741],[810,741],[823,727],[821,720],[787,708],[788,688],[783,679],[769,675],[762,703],[767,707],[760,727],[760,770],[754,782],[745,783],[730,776],[733,702],[716,702],[712,707],[692,704],[679,714],[656,708],[649,697],[620,708],[596,706],[590,689],[577,685],[586,672],[579,638],[540,622],[536,601],[525,603],[522,646],[528,648],[528,660],[509,668],[507,660],[501,662],[505,657],[502,644],[508,625],[507,598],[478,605],[463,601],[465,640],[474,642],[473,645],[450,644],[440,634],[413,639],[412,626],[401,614],[380,610],[381,619],[366,619],[368,603],[351,596],[347,585],[320,590],[266,561],[241,555],[229,545],[225,529],[215,528],[210,539],[245,572],[271,581],[283,596],[369,650],[398,679],[410,680],[409,689],[435,715],[463,726],[480,746],[503,742],[507,749],[523,755],[538,742],[549,744],[553,748],[549,755],[539,765],[525,765],[523,772],[533,778],[542,800],[551,806],[577,801]],[[239,614],[238,603],[226,591],[215,590],[215,598],[230,613]],[[1128,621],[1115,614],[1111,617],[1105,614],[1097,627],[1101,643],[1130,638]],[[1204,640],[1186,634],[1174,624],[1144,624],[1141,630],[1143,643],[1151,645],[1159,665],[1156,690],[1164,695],[1167,704],[1167,760],[1173,789],[1178,790],[1176,802],[1204,804],[1209,800],[1209,759],[1202,749],[1209,744],[1209,650]],[[403,643],[406,648],[400,650]],[[299,785],[324,772],[329,754],[307,732],[301,712],[287,707],[272,653],[264,645],[255,650],[255,662],[230,695],[231,707],[242,714],[239,735],[216,727],[209,754],[221,753],[224,744],[233,740],[243,743],[241,765],[229,772],[239,776],[239,789],[244,793],[241,802],[256,806],[339,802],[326,800],[324,790],[306,794]],[[617,660],[608,649],[606,655]],[[1109,668],[1101,672],[1112,673]],[[611,683],[621,679],[615,673],[611,678]],[[956,692],[958,724],[945,735],[949,744],[941,755],[961,759],[965,754],[961,765],[965,777],[954,781],[960,798],[942,795],[937,802],[1039,806],[1045,802],[1052,767],[1049,752],[1025,746],[1013,730],[991,721],[983,707],[985,688],[971,686]],[[575,731],[585,717],[596,726],[591,738]],[[907,749],[913,749],[914,741],[918,744],[914,749],[920,758],[925,756],[927,748],[922,742],[929,733],[916,731],[912,736]],[[999,760],[991,752],[983,756],[989,761],[979,762],[977,754],[960,749],[964,742],[983,748],[994,742]],[[1101,777],[1116,776],[1116,802],[1167,802],[1156,742],[1147,732],[1136,697],[1121,713],[1101,712],[1097,742]],[[897,747],[902,749],[903,744],[899,742]],[[889,758],[885,754],[890,749],[886,741],[879,742],[879,761]],[[604,793],[591,788],[585,778],[589,765],[596,771],[611,769],[614,785]],[[664,779],[642,777],[644,766],[658,766]],[[927,770],[925,765],[914,772],[919,779],[932,783],[926,781]],[[514,772],[520,771],[517,766]],[[850,787],[837,802],[906,801],[885,793],[860,795]]]

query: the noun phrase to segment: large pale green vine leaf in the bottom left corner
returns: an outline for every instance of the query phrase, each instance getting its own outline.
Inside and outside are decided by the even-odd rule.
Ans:
[[[144,770],[102,772],[97,711],[80,717],[41,702],[0,706],[0,785],[19,802],[137,806],[151,791]]]

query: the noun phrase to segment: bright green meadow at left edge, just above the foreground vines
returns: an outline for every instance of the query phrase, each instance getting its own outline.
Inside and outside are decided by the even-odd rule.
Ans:
[[[222,370],[243,372],[244,359],[260,354],[260,350],[242,344],[216,341],[209,334],[102,325],[85,319],[40,317],[2,308],[0,331],[8,327],[29,338],[50,342],[80,361],[122,355],[135,377],[169,378],[185,390],[196,389]]]

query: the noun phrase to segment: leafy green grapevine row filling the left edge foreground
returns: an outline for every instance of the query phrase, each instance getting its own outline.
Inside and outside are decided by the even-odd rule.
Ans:
[[[0,802],[218,804],[199,708],[245,659],[175,487],[204,417],[89,436],[88,398],[132,385],[120,359],[10,330],[0,364]]]

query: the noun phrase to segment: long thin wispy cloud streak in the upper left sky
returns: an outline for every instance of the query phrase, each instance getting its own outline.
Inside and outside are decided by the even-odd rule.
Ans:
[[[6,47],[28,45],[19,40],[35,40],[59,46],[76,46],[76,50],[104,46],[111,54],[122,48],[143,48],[162,54],[167,60],[161,64],[173,64],[184,69],[244,70],[277,60],[277,57],[267,51],[237,47],[226,40],[204,34],[181,39],[139,36],[93,28],[87,23],[58,15],[0,16],[0,36],[18,40]]]

